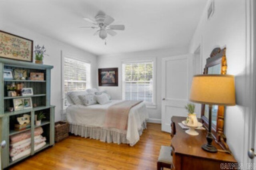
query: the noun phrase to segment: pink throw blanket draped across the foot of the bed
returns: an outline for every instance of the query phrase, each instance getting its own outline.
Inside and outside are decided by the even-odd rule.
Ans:
[[[130,109],[142,101],[123,101],[110,106],[107,110],[105,127],[127,130]]]

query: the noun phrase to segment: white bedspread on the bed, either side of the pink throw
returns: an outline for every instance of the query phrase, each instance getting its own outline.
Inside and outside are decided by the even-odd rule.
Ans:
[[[104,122],[108,107],[122,100],[112,100],[105,105],[70,105],[67,108],[67,119],[71,125],[86,125],[87,127],[101,127],[104,128]],[[110,130],[126,134],[126,139],[129,144],[133,146],[139,141],[139,130],[142,124],[148,119],[146,105],[144,102],[132,107],[128,117],[127,130],[119,130],[111,128]]]

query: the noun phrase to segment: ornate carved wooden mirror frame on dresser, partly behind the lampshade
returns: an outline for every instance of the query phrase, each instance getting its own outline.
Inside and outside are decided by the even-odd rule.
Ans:
[[[210,57],[206,59],[206,65],[204,68],[204,74],[208,74],[208,68],[213,67],[214,65],[220,64],[220,74],[226,74],[227,72],[227,61],[226,61],[226,48],[214,48]],[[208,129],[208,118],[204,115],[205,105],[202,105],[201,118],[202,123],[206,129]],[[212,135],[214,136],[215,141],[226,150],[229,150],[228,145],[226,144],[226,136],[224,135],[224,106],[218,106],[216,125],[212,123]]]

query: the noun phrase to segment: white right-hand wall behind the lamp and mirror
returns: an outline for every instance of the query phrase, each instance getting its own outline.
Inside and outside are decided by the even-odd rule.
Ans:
[[[238,162],[243,161],[245,119],[246,12],[245,0],[215,0],[214,14],[207,21],[207,7],[190,43],[190,53],[202,48],[202,67],[214,47],[226,47],[228,74],[235,75],[236,102],[226,107],[224,134]]]

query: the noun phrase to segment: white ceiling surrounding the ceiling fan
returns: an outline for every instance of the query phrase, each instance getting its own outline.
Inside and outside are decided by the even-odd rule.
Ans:
[[[96,55],[186,47],[207,0],[0,0],[0,16]],[[99,10],[124,31],[107,45],[82,18]]]

